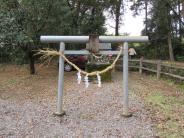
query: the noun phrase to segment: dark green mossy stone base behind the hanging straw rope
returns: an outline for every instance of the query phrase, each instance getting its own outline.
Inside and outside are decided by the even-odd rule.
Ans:
[[[86,65],[86,71],[88,72],[92,72],[92,71],[101,71],[103,69],[105,69],[106,67],[108,67],[110,64],[91,64],[91,63],[88,63]],[[96,76],[93,76],[93,77],[89,77],[89,79],[91,81],[94,81],[96,80]],[[101,75],[101,79],[102,81],[106,81],[106,82],[109,82],[112,80],[112,77],[111,77],[111,70],[102,74]]]

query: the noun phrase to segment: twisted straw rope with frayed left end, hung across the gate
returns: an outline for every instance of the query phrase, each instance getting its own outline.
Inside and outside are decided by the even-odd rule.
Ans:
[[[93,72],[86,72],[84,70],[81,70],[77,65],[75,65],[74,63],[69,61],[68,58],[64,55],[64,53],[58,52],[58,51],[53,50],[53,49],[46,49],[46,50],[40,49],[40,50],[38,50],[38,52],[35,55],[42,55],[40,57],[40,59],[43,59],[43,60],[48,59],[49,62],[54,56],[61,56],[68,64],[73,66],[81,74],[86,75],[86,76],[96,76],[97,74],[100,75],[100,74],[103,74],[103,73],[113,69],[115,67],[115,64],[118,61],[119,57],[121,56],[122,51],[123,51],[123,48],[122,48],[122,46],[120,46],[119,53],[111,65],[109,65],[108,67],[106,67],[105,69],[103,69],[101,71],[93,71]]]

